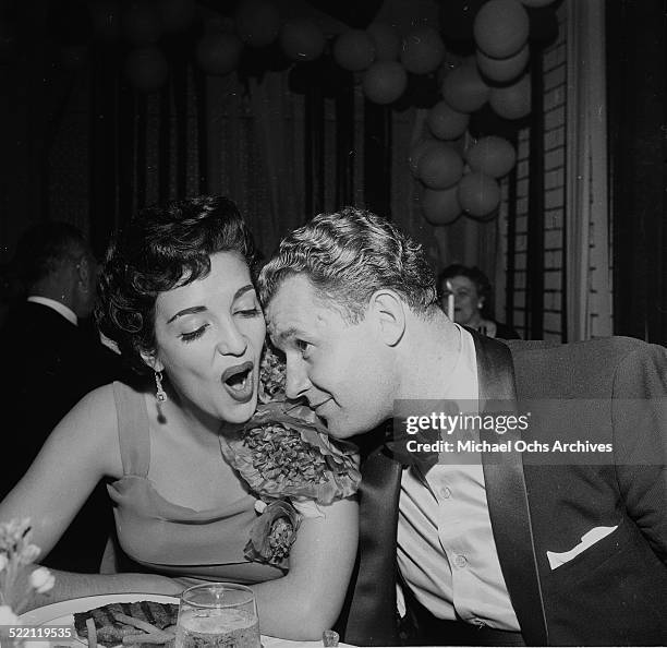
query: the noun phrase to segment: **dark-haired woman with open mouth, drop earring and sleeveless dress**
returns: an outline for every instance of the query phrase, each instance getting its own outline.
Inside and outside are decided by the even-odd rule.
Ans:
[[[225,460],[220,435],[257,401],[265,323],[252,260],[245,225],[221,197],[146,209],[110,248],[98,323],[155,387],[88,394],[0,504],[0,519],[29,516],[46,553],[106,479],[136,572],[57,573],[57,599],[233,580],[253,584],[264,633],[317,639],[333,624],[356,549],[355,502],[302,521],[287,574],[243,557],[256,500]]]

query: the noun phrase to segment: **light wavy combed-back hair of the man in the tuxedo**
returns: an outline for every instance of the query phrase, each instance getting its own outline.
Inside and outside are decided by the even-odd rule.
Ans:
[[[268,305],[281,283],[298,274],[350,324],[363,320],[381,288],[395,290],[423,317],[438,310],[435,274],[422,247],[365,209],[319,214],[288,235],[259,274],[262,302]]]

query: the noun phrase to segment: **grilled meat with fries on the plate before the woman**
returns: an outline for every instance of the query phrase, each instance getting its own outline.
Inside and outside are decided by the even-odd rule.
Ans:
[[[86,622],[95,623],[99,646],[156,645],[173,643],[173,627],[179,615],[177,603],[137,601],[135,603],[110,603],[87,612],[74,614],[74,627],[82,639],[89,637]]]

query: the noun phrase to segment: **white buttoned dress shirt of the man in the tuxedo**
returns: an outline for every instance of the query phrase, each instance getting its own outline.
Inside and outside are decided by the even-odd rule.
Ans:
[[[460,352],[444,397],[469,411],[478,397],[475,346],[470,333],[458,328]],[[426,476],[414,467],[403,470],[398,563],[416,599],[436,617],[520,629],[500,572],[481,458],[437,464]]]

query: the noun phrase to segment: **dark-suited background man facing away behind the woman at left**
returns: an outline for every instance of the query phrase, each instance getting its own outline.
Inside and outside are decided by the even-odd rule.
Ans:
[[[26,293],[10,310],[0,336],[7,448],[0,499],[85,394],[123,376],[120,360],[85,322],[95,302],[97,262],[82,232],[66,223],[37,225],[22,237],[13,263]],[[109,499],[100,484],[41,562],[97,572],[111,521]]]

